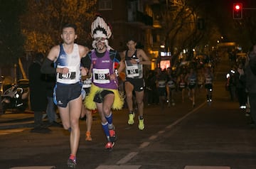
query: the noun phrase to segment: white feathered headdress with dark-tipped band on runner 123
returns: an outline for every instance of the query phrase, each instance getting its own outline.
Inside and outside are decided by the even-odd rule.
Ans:
[[[101,16],[97,16],[91,26],[92,38],[110,38],[112,36],[110,25]]]

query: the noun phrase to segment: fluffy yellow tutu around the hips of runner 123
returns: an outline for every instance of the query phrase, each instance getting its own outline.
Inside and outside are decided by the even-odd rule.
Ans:
[[[102,90],[109,90],[114,92],[114,103],[112,105],[112,109],[122,109],[123,105],[124,105],[124,96],[122,94],[119,93],[118,89],[105,89],[105,88],[100,88],[95,86],[94,84],[92,84],[91,88],[90,88],[90,93],[88,94],[87,97],[85,97],[85,107],[87,107],[87,109],[91,109],[94,110],[96,109],[96,103],[93,102],[93,99],[95,98],[95,94],[97,94],[98,92],[102,92]]]

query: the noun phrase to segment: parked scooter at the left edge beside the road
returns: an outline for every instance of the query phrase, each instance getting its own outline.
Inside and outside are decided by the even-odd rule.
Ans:
[[[28,107],[28,95],[28,80],[19,80],[17,84],[12,84],[1,96],[2,113],[7,109],[24,111]]]

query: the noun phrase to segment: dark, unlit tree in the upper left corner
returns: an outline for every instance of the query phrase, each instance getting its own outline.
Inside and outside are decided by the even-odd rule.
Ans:
[[[13,65],[23,55],[19,16],[26,9],[26,1],[0,0],[0,4],[0,66]]]

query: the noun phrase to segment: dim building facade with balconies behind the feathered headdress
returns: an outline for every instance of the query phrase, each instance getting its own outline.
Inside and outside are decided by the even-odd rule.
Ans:
[[[161,45],[161,26],[152,6],[154,0],[98,0],[98,13],[112,26],[110,46],[117,51],[127,49],[129,38],[137,40],[138,48],[143,48],[152,61],[151,70],[157,66]]]

